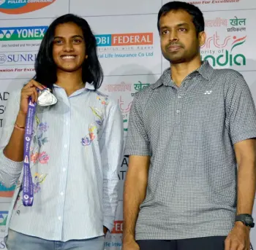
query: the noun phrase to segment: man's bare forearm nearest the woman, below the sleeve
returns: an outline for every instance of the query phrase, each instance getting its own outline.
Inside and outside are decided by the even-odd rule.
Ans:
[[[146,197],[149,156],[132,155],[124,182],[124,242],[135,241],[135,224],[140,204]]]

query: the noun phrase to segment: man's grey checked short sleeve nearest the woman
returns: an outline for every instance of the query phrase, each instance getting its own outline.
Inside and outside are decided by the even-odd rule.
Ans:
[[[128,134],[124,155],[151,155],[148,134],[143,121],[143,108],[139,101],[139,96],[135,95],[129,112]]]

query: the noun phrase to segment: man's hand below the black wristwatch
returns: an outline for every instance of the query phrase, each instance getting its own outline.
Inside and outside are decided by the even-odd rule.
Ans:
[[[249,232],[250,228],[246,227],[243,222],[236,222],[225,240],[225,250],[249,250]]]

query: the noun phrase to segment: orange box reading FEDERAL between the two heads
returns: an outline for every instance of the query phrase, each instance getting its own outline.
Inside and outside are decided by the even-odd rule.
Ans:
[[[113,34],[112,46],[151,45],[153,33]]]

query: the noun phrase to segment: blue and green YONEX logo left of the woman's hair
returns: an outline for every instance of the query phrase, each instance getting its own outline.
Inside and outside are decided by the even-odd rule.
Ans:
[[[0,0],[1,1],[1,0]],[[0,28],[1,41],[42,40],[48,26],[4,27]]]

